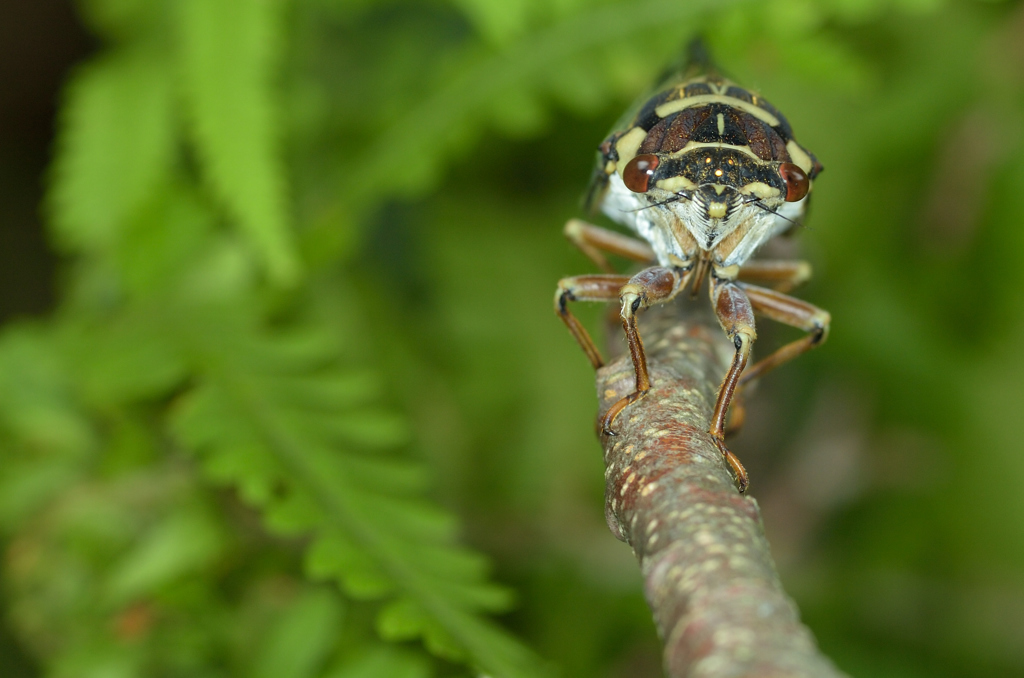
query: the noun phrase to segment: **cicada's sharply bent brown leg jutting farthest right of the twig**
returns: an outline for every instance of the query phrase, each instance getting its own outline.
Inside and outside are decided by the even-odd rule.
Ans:
[[[773,321],[808,333],[806,337],[790,342],[771,355],[761,358],[746,371],[746,374],[740,379],[740,383],[745,384],[757,379],[769,370],[773,370],[823,343],[827,338],[828,326],[831,323],[831,315],[828,314],[828,311],[781,292],[745,283],[739,283],[739,285],[750,297],[754,310]]]

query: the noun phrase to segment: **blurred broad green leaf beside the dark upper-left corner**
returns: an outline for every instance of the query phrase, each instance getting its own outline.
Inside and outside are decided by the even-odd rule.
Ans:
[[[110,248],[166,176],[174,150],[171,69],[162,54],[115,51],[66,92],[49,208],[66,247]]]

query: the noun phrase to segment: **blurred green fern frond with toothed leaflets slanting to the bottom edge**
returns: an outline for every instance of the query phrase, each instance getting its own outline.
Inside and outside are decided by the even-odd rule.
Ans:
[[[483,617],[509,596],[487,582],[483,559],[456,543],[451,516],[424,499],[422,469],[378,451],[406,432],[374,405],[365,375],[339,365],[322,335],[261,332],[237,312],[178,331],[199,385],[180,402],[175,430],[268,525],[313,536],[311,577],[387,600],[378,623],[387,639],[422,636],[435,653],[495,676],[543,673]]]

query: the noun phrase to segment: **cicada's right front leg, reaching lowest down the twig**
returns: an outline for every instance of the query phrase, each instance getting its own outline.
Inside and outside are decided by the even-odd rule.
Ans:
[[[732,402],[732,396],[739,385],[739,377],[743,368],[746,367],[751,348],[758,336],[754,326],[754,309],[751,300],[739,285],[715,276],[712,276],[711,279],[711,299],[718,322],[725,330],[726,336],[732,340],[736,352],[732,356],[732,364],[722,380],[722,385],[719,386],[718,399],[715,401],[715,411],[712,413],[709,433],[732,467],[739,492],[744,492],[749,483],[746,469],[743,468],[739,459],[725,447],[725,426],[729,404]]]

